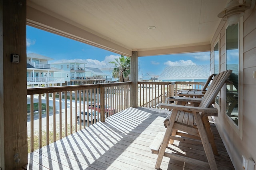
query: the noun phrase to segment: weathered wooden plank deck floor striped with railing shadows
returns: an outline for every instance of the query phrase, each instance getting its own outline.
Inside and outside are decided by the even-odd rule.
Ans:
[[[48,146],[28,154],[25,169],[51,170],[154,170],[156,154],[149,148],[159,131],[164,131],[163,121],[169,111],[150,108],[129,108],[96,123],[84,130],[69,135]],[[219,170],[234,170],[224,145],[212,124],[219,156]],[[206,160],[200,145],[190,146],[182,142],[172,146],[177,152]],[[179,148],[178,148],[179,147]],[[163,170],[204,170],[199,165],[164,158]]]

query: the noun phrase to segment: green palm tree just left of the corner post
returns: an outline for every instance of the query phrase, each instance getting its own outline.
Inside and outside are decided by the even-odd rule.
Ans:
[[[114,78],[119,78],[119,82],[129,81],[130,80],[130,57],[121,57],[116,58],[116,61],[110,61],[109,63],[114,64],[114,69],[112,75]]]

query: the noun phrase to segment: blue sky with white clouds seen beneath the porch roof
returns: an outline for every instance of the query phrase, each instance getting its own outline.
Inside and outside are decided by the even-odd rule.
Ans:
[[[53,58],[53,63],[62,59],[82,59],[87,67],[111,67],[109,61],[120,57],[119,54],[77,42],[56,34],[27,26],[27,53],[37,53]],[[185,53],[139,57],[143,74],[160,75],[167,66],[210,65],[210,52]]]

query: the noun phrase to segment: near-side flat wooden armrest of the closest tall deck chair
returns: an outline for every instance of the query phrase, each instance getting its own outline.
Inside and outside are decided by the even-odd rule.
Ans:
[[[165,109],[175,109],[185,112],[201,112],[204,116],[218,116],[218,109],[211,107],[194,107],[194,106],[183,106],[183,105],[171,105],[166,103],[158,104],[158,107]]]

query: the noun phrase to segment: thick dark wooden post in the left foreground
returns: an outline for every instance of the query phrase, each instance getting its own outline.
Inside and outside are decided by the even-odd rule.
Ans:
[[[19,62],[11,62],[11,54]],[[17,57],[16,57],[17,59]],[[0,1],[0,168],[28,163],[26,1]]]

